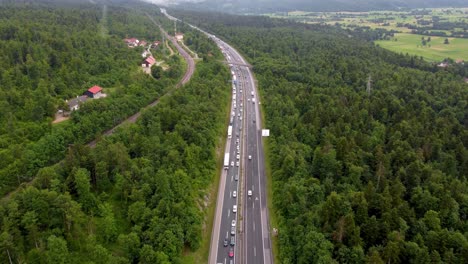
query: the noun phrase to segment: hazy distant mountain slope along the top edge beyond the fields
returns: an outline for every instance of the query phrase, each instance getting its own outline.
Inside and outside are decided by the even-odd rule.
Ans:
[[[278,11],[369,11],[430,7],[468,7],[467,0],[143,0],[227,13]],[[201,1],[201,2],[200,2]]]

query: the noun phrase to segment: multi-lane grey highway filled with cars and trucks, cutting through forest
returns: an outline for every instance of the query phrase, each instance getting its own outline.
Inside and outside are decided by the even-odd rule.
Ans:
[[[167,14],[165,9],[161,9],[161,12],[171,20],[179,20]],[[232,128],[227,129],[224,155],[224,165],[227,166],[221,171],[208,263],[273,263],[259,107],[261,102],[253,74],[249,64],[234,48],[216,36],[190,26],[206,34],[218,45],[232,76],[229,122]],[[235,205],[236,213],[233,212]],[[231,243],[231,239],[234,239],[234,243]]]

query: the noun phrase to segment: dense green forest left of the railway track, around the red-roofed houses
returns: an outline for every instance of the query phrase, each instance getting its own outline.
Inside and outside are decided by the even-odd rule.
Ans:
[[[161,40],[143,14],[118,6],[0,5],[0,194],[61,160],[69,144],[90,141],[177,81],[180,70],[158,81],[144,74],[143,47],[127,48],[125,37]],[[173,68],[183,63],[166,59],[161,50],[153,53]],[[93,85],[109,96],[87,102],[69,121],[51,124],[65,100]]]

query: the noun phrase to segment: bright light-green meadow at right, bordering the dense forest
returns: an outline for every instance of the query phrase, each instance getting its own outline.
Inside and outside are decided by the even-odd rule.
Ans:
[[[431,37],[425,47],[421,46],[422,35],[398,33],[392,40],[379,40],[375,44],[398,53],[408,53],[429,61],[442,61],[445,58],[468,61],[468,39],[449,38],[450,44],[444,44],[444,37]],[[424,36],[427,39],[427,36]],[[429,47],[430,45],[430,47]]]

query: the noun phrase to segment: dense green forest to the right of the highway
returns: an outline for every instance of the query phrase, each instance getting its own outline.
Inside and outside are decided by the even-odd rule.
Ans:
[[[170,13],[254,66],[281,263],[468,263],[463,76],[335,27]]]

